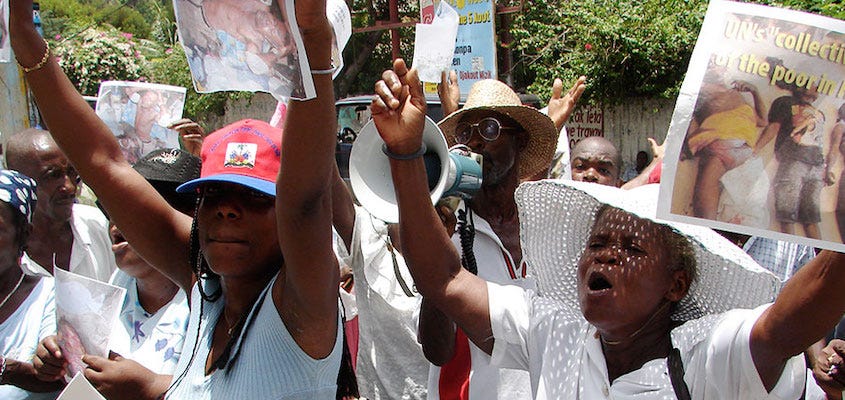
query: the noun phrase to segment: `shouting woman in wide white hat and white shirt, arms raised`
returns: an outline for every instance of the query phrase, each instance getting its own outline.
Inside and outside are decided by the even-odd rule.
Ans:
[[[528,370],[535,398],[801,396],[802,351],[845,311],[845,255],[822,252],[778,294],[776,277],[712,230],[657,220],[653,185],[541,181],[516,193],[537,289],[486,282],[457,252],[432,251],[450,247],[410,156],[425,113],[416,71],[395,63],[376,90],[417,288],[493,364]]]

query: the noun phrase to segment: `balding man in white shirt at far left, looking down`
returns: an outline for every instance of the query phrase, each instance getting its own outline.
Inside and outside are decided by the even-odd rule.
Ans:
[[[117,268],[108,221],[100,210],[76,204],[80,178],[50,133],[26,129],[6,143],[6,165],[37,184],[32,234],[21,260],[30,275],[53,275],[53,266],[108,282]]]

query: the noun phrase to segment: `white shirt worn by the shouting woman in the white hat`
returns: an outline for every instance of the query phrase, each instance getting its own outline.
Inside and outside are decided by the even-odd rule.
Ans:
[[[531,373],[535,399],[674,399],[666,359],[610,382],[596,328],[580,310],[522,288],[487,284],[496,365]],[[768,304],[687,321],[672,330],[693,399],[797,399],[804,357],[790,358],[766,392],[751,357],[751,328]]]

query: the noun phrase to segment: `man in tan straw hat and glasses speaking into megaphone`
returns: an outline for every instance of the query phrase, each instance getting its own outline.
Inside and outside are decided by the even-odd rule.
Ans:
[[[397,63],[404,68],[403,61]],[[565,96],[558,88],[558,119],[568,117],[583,90],[584,79]],[[482,187],[457,209],[458,232],[452,243],[461,254],[463,266],[492,282],[520,282],[526,266],[513,194],[519,182],[547,172],[557,144],[555,123],[538,110],[523,106],[504,83],[483,80],[472,86],[464,108],[444,118],[440,128],[450,147],[465,145],[483,156]],[[441,212],[448,215],[444,219],[454,221],[450,211]],[[430,250],[441,251],[436,247]],[[484,351],[469,343],[463,332],[426,299],[419,315],[419,340],[426,358],[434,364],[429,372],[430,399],[530,397],[524,371],[491,366]]]

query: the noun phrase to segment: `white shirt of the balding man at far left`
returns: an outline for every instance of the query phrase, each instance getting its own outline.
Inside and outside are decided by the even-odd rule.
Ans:
[[[111,251],[106,217],[95,207],[74,204],[70,226],[73,245],[68,270],[100,282],[108,282],[117,269],[117,264]],[[27,275],[52,276],[26,253],[21,259],[21,269]]]

